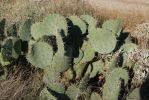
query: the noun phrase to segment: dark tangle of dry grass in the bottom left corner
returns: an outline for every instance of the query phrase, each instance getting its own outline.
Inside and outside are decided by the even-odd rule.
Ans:
[[[0,81],[0,100],[37,100],[44,86],[43,71],[22,58],[7,68],[7,80]]]

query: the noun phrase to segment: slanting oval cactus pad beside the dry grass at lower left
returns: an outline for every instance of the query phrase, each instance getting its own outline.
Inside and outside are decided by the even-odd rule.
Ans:
[[[59,77],[59,73],[51,66],[47,66],[44,69],[43,82],[46,86],[57,93],[63,94],[65,92],[65,85],[59,82]]]

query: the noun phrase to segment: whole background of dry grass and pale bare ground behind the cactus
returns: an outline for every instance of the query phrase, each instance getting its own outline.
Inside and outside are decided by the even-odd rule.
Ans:
[[[147,0],[144,0],[147,1]],[[130,3],[131,2],[131,3]],[[148,3],[148,2],[147,2]],[[140,4],[140,5],[139,5]],[[139,6],[138,6],[139,5]],[[132,31],[134,26],[149,20],[149,7],[140,1],[128,0],[1,0],[0,17],[7,22],[20,22],[28,16],[35,21],[42,20],[49,13],[62,15],[89,14],[99,19],[123,18],[126,31]]]

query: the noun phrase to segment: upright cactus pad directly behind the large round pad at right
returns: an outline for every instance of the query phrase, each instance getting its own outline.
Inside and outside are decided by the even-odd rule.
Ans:
[[[120,32],[123,27],[123,21],[121,19],[115,19],[115,20],[107,20],[103,23],[102,28],[107,29],[111,31],[114,35],[119,36]]]

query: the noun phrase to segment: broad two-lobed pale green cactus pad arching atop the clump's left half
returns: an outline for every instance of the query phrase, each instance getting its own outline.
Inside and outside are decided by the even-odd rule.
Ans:
[[[67,22],[65,18],[59,14],[50,14],[44,19],[43,22],[38,22],[32,25],[31,35],[35,40],[41,38],[44,35],[51,36],[60,34],[63,31],[64,34],[61,36],[67,36]]]

